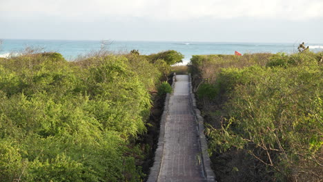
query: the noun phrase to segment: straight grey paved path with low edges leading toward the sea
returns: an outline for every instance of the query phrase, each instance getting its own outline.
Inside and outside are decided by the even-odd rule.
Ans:
[[[148,182],[206,181],[199,128],[190,103],[188,75],[176,76],[166,110],[168,112],[164,113],[164,124],[161,123],[159,147]]]

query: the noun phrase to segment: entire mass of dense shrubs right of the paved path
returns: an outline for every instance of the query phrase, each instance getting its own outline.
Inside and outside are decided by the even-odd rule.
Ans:
[[[323,52],[194,56],[218,181],[323,179]]]

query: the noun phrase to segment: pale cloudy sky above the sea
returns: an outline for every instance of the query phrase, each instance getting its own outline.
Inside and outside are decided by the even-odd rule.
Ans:
[[[0,39],[323,43],[323,0],[0,0]]]

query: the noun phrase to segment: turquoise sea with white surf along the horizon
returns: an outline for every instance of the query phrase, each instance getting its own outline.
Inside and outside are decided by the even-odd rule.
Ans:
[[[54,51],[63,54],[67,60],[75,59],[95,50],[100,50],[101,41],[68,41],[68,40],[25,40],[2,39],[0,57],[6,57],[14,52],[21,52],[27,47],[43,48],[44,51]],[[140,54],[152,54],[163,50],[177,50],[184,54],[184,63],[196,54],[234,54],[235,50],[244,53],[255,52],[287,52],[297,51],[298,43],[211,43],[211,42],[164,42],[164,41],[107,41],[104,45],[108,50],[130,52],[139,50]],[[307,45],[307,44],[306,44]],[[323,50],[323,43],[313,43],[311,50]]]

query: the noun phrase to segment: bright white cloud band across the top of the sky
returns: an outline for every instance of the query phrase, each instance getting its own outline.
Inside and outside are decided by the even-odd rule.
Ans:
[[[306,20],[323,17],[323,0],[0,0],[0,17],[63,19],[145,17],[187,20],[253,17]]]

